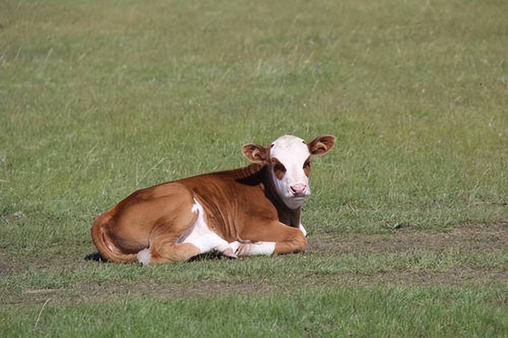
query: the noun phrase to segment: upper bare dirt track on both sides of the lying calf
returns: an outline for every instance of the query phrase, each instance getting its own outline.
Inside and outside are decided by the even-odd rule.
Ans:
[[[30,256],[8,263],[7,255],[0,252],[0,275],[16,273],[27,268],[46,269],[58,266],[101,264],[97,252],[91,247],[77,247],[74,251],[64,250],[50,257]],[[458,248],[465,251],[495,250],[508,248],[508,221],[490,224],[464,224],[447,232],[398,229],[388,234],[319,234],[309,236],[309,254],[350,254],[375,252],[405,252],[430,250],[442,252]],[[78,251],[76,251],[78,250]],[[207,255],[210,259],[214,255]],[[203,257],[197,258],[203,259]]]

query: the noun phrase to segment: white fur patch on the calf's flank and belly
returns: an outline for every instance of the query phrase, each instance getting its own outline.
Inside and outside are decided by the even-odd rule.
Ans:
[[[221,239],[218,234],[210,230],[205,222],[205,211],[203,206],[194,199],[195,205],[191,209],[198,212],[198,219],[194,223],[189,233],[181,236],[177,243],[190,243],[199,248],[200,253],[210,252],[212,250],[224,252],[228,249],[232,250],[228,242]],[[234,252],[234,251],[233,251]]]

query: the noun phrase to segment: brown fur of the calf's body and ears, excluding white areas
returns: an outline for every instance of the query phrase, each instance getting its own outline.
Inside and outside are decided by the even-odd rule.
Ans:
[[[311,154],[333,147],[335,139],[330,138],[312,141],[308,145]],[[132,262],[147,247],[153,263],[182,261],[199,254],[197,246],[178,243],[192,231],[198,217],[192,211],[194,199],[202,205],[210,230],[228,243],[275,242],[275,253],[305,251],[300,208],[289,209],[277,195],[270,178],[274,168],[269,148],[247,144],[243,154],[254,163],[135,191],[99,216],[91,236],[101,257]]]

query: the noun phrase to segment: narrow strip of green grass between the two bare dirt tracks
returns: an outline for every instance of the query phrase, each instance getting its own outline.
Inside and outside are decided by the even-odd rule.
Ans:
[[[82,257],[79,257],[82,258]],[[289,257],[263,257],[239,261],[210,260],[192,263],[175,263],[154,267],[124,264],[97,264],[95,262],[61,264],[51,262],[43,266],[30,266],[7,277],[0,277],[0,299],[44,288],[86,288],[89,283],[114,284],[133,287],[143,281],[162,284],[181,284],[213,281],[216,283],[257,284],[265,286],[312,285],[329,279],[337,283],[344,276],[357,276],[376,281],[383,274],[429,274],[443,272],[455,275],[462,270],[479,272],[505,271],[508,266],[508,250],[461,251],[457,248],[436,253],[429,250],[403,251],[400,253],[376,252],[342,254],[309,254]],[[450,276],[450,278],[452,277]],[[507,275],[508,276],[508,275]],[[489,278],[486,276],[486,278]],[[439,283],[439,280],[432,282]],[[446,281],[443,281],[446,282]],[[497,282],[496,280],[490,281]],[[114,286],[113,286],[114,287]]]

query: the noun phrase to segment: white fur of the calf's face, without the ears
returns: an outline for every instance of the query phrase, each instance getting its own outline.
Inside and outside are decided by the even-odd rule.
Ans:
[[[284,203],[290,209],[297,209],[303,205],[305,197],[310,195],[309,178],[303,170],[303,165],[310,156],[308,146],[303,139],[290,135],[278,138],[272,145],[270,157],[279,160],[286,170],[279,180],[272,168],[272,181]]]

